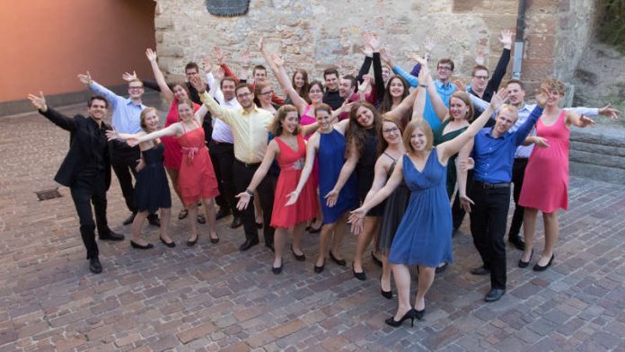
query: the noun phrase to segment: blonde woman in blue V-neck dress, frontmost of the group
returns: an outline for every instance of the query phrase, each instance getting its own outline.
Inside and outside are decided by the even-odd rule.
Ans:
[[[507,91],[501,90],[479,119],[450,141],[433,147],[432,129],[424,119],[413,120],[403,134],[407,154],[398,160],[391,178],[362,207],[352,212],[350,220],[362,221],[366,212],[391,195],[401,180],[410,189],[409,206],[393,238],[389,263],[398,289],[399,304],[394,316],[386,320],[391,326],[402,321],[421,319],[426,312],[425,295],[434,281],[439,263],[452,262],[452,211],[447,197],[447,161],[475,136],[499,108]],[[418,291],[414,308],[410,305],[408,266],[418,265]]]

